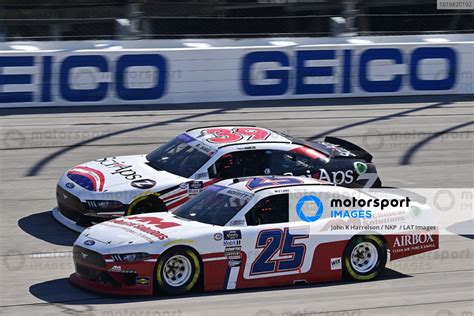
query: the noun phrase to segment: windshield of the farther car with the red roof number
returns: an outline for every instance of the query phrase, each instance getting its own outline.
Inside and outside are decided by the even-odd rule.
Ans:
[[[213,148],[181,134],[149,153],[146,159],[154,168],[189,178],[213,155]]]

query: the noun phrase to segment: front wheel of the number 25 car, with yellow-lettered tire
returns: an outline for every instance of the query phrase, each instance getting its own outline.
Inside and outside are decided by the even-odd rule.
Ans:
[[[184,273],[184,270],[179,268],[175,271],[176,279],[182,281],[182,284],[179,284],[177,281],[173,281],[170,274],[173,272],[168,272],[168,277],[165,276],[166,271],[170,271],[169,267],[174,262],[179,263],[181,260],[183,263],[186,262],[190,264],[189,274]],[[186,263],[184,263],[186,265]],[[179,277],[179,272],[184,274],[184,277]],[[190,292],[193,288],[199,283],[202,275],[202,264],[199,259],[198,254],[190,248],[187,247],[176,247],[166,251],[156,263],[155,266],[155,291],[167,295],[182,295]],[[188,275],[186,277],[186,275]],[[176,282],[176,284],[172,284]]]

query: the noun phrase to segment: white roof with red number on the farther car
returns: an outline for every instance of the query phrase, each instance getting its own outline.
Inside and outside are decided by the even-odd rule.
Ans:
[[[199,127],[187,130],[186,134],[216,149],[255,143],[292,143],[275,131],[249,125]]]

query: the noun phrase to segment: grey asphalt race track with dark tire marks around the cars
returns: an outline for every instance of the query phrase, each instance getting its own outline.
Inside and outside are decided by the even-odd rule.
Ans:
[[[139,154],[197,126],[245,123],[302,138],[361,144],[388,186],[474,186],[471,96],[3,109],[0,315],[473,315],[474,241],[442,236],[438,251],[401,259],[377,281],[111,298],[68,283],[76,233],[51,217],[60,175],[81,162]],[[471,223],[472,224],[472,223]]]

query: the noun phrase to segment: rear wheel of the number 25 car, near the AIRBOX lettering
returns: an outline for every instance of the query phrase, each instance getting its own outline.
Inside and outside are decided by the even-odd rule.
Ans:
[[[342,269],[350,279],[370,281],[383,271],[386,263],[387,246],[383,239],[374,235],[358,235],[344,249]]]

